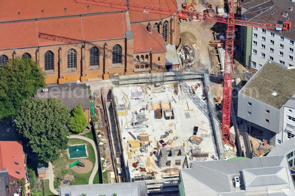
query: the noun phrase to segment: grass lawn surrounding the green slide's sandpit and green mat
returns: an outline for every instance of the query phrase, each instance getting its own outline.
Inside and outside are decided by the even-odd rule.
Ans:
[[[87,152],[88,152],[88,159],[95,164],[95,154],[92,145],[82,139],[69,139],[68,145],[76,145],[76,144],[86,144]],[[75,162],[77,159],[68,159],[68,152],[67,149],[63,150],[62,152],[63,157],[59,157],[57,160],[53,162],[53,172],[55,177],[65,176],[66,174],[70,174],[74,176],[73,185],[85,185],[89,182],[89,177],[93,169],[86,174],[78,174],[74,172],[72,169],[68,167],[69,164]],[[96,179],[95,179],[96,180]],[[58,182],[57,178],[54,179],[54,188],[57,189],[60,186],[60,181]]]

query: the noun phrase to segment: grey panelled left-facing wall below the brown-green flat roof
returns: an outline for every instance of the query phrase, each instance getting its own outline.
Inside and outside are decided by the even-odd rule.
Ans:
[[[252,106],[249,103],[252,103]],[[269,110],[269,113],[266,110]],[[283,128],[282,111],[283,107],[277,109],[240,92],[238,93],[238,116],[275,133],[281,132]],[[269,122],[266,122],[266,119]]]

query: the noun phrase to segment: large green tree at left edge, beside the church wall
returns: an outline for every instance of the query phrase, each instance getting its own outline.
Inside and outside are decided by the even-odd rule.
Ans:
[[[0,119],[12,119],[25,98],[45,86],[45,73],[30,58],[10,59],[0,67]]]

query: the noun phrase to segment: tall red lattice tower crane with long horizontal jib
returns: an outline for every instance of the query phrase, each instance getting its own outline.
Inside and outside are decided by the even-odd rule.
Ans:
[[[239,1],[239,0],[238,0]],[[141,11],[143,13],[156,13],[167,16],[177,16],[182,14],[182,10],[161,8],[150,5],[139,5],[126,2],[116,2],[109,0],[75,0],[76,3],[84,3],[105,7],[113,7],[122,10]],[[230,143],[235,146],[234,140],[230,134],[230,109],[231,109],[231,90],[232,90],[232,66],[233,66],[233,46],[235,38],[235,25],[246,27],[258,27],[263,29],[272,29],[278,31],[290,31],[291,22],[281,21],[263,21],[263,20],[247,20],[235,19],[234,2],[225,2],[229,4],[229,12],[226,16],[211,14],[207,12],[186,11],[187,18],[206,20],[212,22],[220,22],[227,24],[226,41],[225,41],[225,62],[224,62],[224,80],[223,80],[223,108],[222,108],[222,140],[224,143]],[[240,12],[240,4],[238,5]],[[240,13],[238,13],[240,14]],[[254,14],[254,13],[253,13]]]

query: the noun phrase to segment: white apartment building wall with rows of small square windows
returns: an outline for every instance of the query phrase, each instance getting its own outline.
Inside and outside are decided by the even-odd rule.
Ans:
[[[250,27],[248,27],[250,28]],[[266,32],[262,32],[263,29],[256,29],[253,27],[253,32],[251,35],[248,35],[247,38],[251,38],[251,58],[253,62],[256,62],[256,67],[253,65],[252,62],[252,68],[258,70],[268,59],[271,59],[273,57],[273,61],[281,64],[280,60],[285,62],[284,67],[288,69],[294,69],[295,68],[295,47],[294,44],[290,43],[290,40],[288,37],[284,37],[283,40],[281,39],[281,35],[274,33],[274,36],[271,35],[271,31],[266,29]],[[253,37],[253,34],[257,34],[257,38]],[[261,37],[265,37],[265,41],[261,39]],[[270,42],[274,41],[274,44],[272,45]],[[253,41],[257,42],[257,45],[253,44]],[[295,41],[294,41],[295,42]],[[261,44],[265,45],[265,49],[261,48]],[[283,45],[283,48],[280,47],[280,44]],[[270,48],[273,49],[273,52],[270,51]],[[294,52],[290,52],[290,48],[293,49]],[[253,49],[257,50],[257,54],[253,54]],[[261,57],[261,52],[265,54],[265,58]],[[283,52],[283,56],[280,56],[280,52]],[[293,57],[293,60],[289,59],[289,55]],[[291,66],[293,65],[293,66]]]

